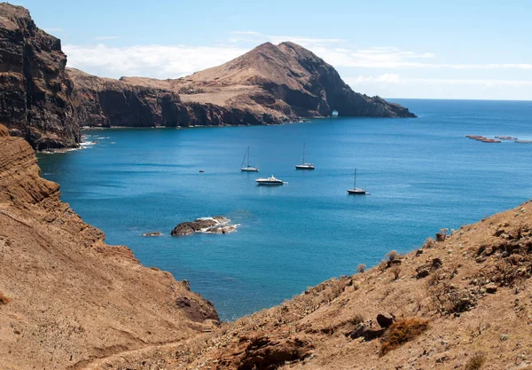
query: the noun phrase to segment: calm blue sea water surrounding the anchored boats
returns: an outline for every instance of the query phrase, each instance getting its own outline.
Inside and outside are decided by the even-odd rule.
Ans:
[[[93,130],[97,145],[39,161],[108,243],[188,279],[222,319],[236,319],[532,197],[532,145],[465,138],[532,139],[532,102],[396,101],[419,118]],[[303,142],[314,171],[293,167]],[[259,174],[239,171],[246,146]],[[355,168],[357,186],[371,195],[348,195]],[[289,184],[255,185],[272,174]],[[180,222],[215,215],[238,231],[169,235]],[[164,235],[140,236],[150,231]]]

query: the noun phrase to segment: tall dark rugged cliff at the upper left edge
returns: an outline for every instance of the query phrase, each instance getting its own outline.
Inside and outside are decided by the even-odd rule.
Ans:
[[[72,83],[59,39],[20,6],[0,4],[0,122],[35,149],[77,146]]]

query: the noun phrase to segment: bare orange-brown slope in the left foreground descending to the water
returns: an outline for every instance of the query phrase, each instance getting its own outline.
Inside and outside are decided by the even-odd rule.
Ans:
[[[198,335],[213,306],[59,201],[35,152],[0,125],[0,368],[78,369]]]

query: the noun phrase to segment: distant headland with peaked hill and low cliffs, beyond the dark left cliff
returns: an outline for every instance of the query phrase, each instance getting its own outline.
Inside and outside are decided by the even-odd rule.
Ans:
[[[386,100],[356,93],[336,70],[295,43],[263,43],[237,59],[177,80],[120,81],[68,69],[83,125],[275,124],[301,117],[415,117]]]

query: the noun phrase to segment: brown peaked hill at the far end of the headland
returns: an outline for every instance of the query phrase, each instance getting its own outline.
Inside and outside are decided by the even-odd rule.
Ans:
[[[415,117],[403,106],[352,91],[331,65],[295,43],[262,43],[222,66],[177,80],[121,81],[176,91],[183,102],[270,114],[278,122],[329,116],[333,110],[345,116]]]

